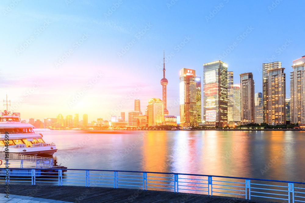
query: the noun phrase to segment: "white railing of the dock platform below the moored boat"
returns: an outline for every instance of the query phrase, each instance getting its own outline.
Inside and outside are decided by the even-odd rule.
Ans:
[[[6,159],[5,159],[6,158]],[[5,161],[7,160],[7,161]],[[4,168],[8,163],[9,168],[52,168],[53,159],[38,156],[0,152],[0,168]]]

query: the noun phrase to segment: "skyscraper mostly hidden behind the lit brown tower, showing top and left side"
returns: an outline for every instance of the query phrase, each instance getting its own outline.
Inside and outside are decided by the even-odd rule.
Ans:
[[[266,108],[268,100],[268,70],[273,70],[277,68],[282,68],[282,63],[280,61],[272,63],[263,63],[263,115],[264,123],[267,123],[266,119]]]

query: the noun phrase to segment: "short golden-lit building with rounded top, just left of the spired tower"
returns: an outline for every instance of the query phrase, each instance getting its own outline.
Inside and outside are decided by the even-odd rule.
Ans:
[[[148,126],[161,125],[164,121],[164,105],[160,99],[148,101]]]

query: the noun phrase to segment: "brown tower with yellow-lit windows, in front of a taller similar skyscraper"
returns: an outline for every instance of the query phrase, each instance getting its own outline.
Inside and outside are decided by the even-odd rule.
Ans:
[[[269,125],[286,124],[286,74],[285,68],[267,70],[267,102],[264,121]]]

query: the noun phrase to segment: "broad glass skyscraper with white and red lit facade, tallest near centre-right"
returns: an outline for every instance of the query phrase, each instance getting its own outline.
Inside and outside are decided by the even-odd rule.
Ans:
[[[203,64],[203,122],[205,126],[228,124],[228,65]]]

